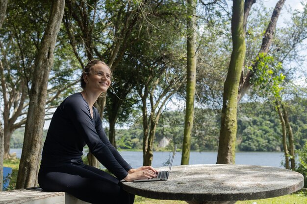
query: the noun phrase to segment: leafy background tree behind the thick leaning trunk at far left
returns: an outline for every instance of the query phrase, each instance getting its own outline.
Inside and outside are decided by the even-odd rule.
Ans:
[[[10,158],[10,139],[13,132],[24,127],[29,105],[29,92],[33,73],[34,60],[41,42],[41,35],[48,22],[50,3],[35,1],[11,0],[7,7],[5,30],[0,32],[0,93],[3,104],[4,158]],[[77,68],[74,59],[65,48],[67,43],[61,41],[56,47],[54,68],[48,82],[48,100],[46,118],[51,115],[57,100],[71,92],[74,70]],[[64,54],[65,52],[65,54]],[[70,64],[65,63],[70,61]]]

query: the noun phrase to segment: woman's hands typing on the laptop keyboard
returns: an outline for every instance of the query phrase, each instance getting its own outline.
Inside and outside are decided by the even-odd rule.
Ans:
[[[155,170],[152,166],[142,166],[137,169],[130,169],[128,171],[128,175],[124,178],[125,181],[134,181],[138,179],[151,179],[156,177],[157,170]]]

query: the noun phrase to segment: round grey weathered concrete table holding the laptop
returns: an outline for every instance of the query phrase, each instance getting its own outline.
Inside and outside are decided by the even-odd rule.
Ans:
[[[231,164],[173,166],[167,181],[123,182],[123,188],[129,193],[188,204],[233,204],[265,199],[293,193],[303,186],[303,175],[294,171]]]

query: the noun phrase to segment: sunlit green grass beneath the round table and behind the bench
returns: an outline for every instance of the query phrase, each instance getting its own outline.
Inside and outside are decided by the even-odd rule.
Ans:
[[[13,169],[12,178],[9,185],[9,190],[15,189],[19,159],[9,159],[3,161],[3,166],[11,167]],[[144,198],[141,196],[135,196],[134,204],[187,204],[184,201],[170,201],[170,200],[155,200]],[[307,204],[307,191],[302,190],[290,195],[280,196],[276,198],[268,198],[262,200],[253,201],[238,201],[236,204]]]

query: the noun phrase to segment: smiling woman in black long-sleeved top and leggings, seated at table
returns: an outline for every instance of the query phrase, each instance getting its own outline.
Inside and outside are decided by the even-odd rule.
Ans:
[[[80,77],[83,91],[67,97],[51,119],[44,143],[38,182],[46,191],[65,191],[94,204],[133,204],[134,195],[121,188],[121,180],[153,178],[151,166],[133,169],[107,139],[94,103],[111,84],[110,68],[92,60]],[[115,177],[85,165],[88,145],[94,156]]]

